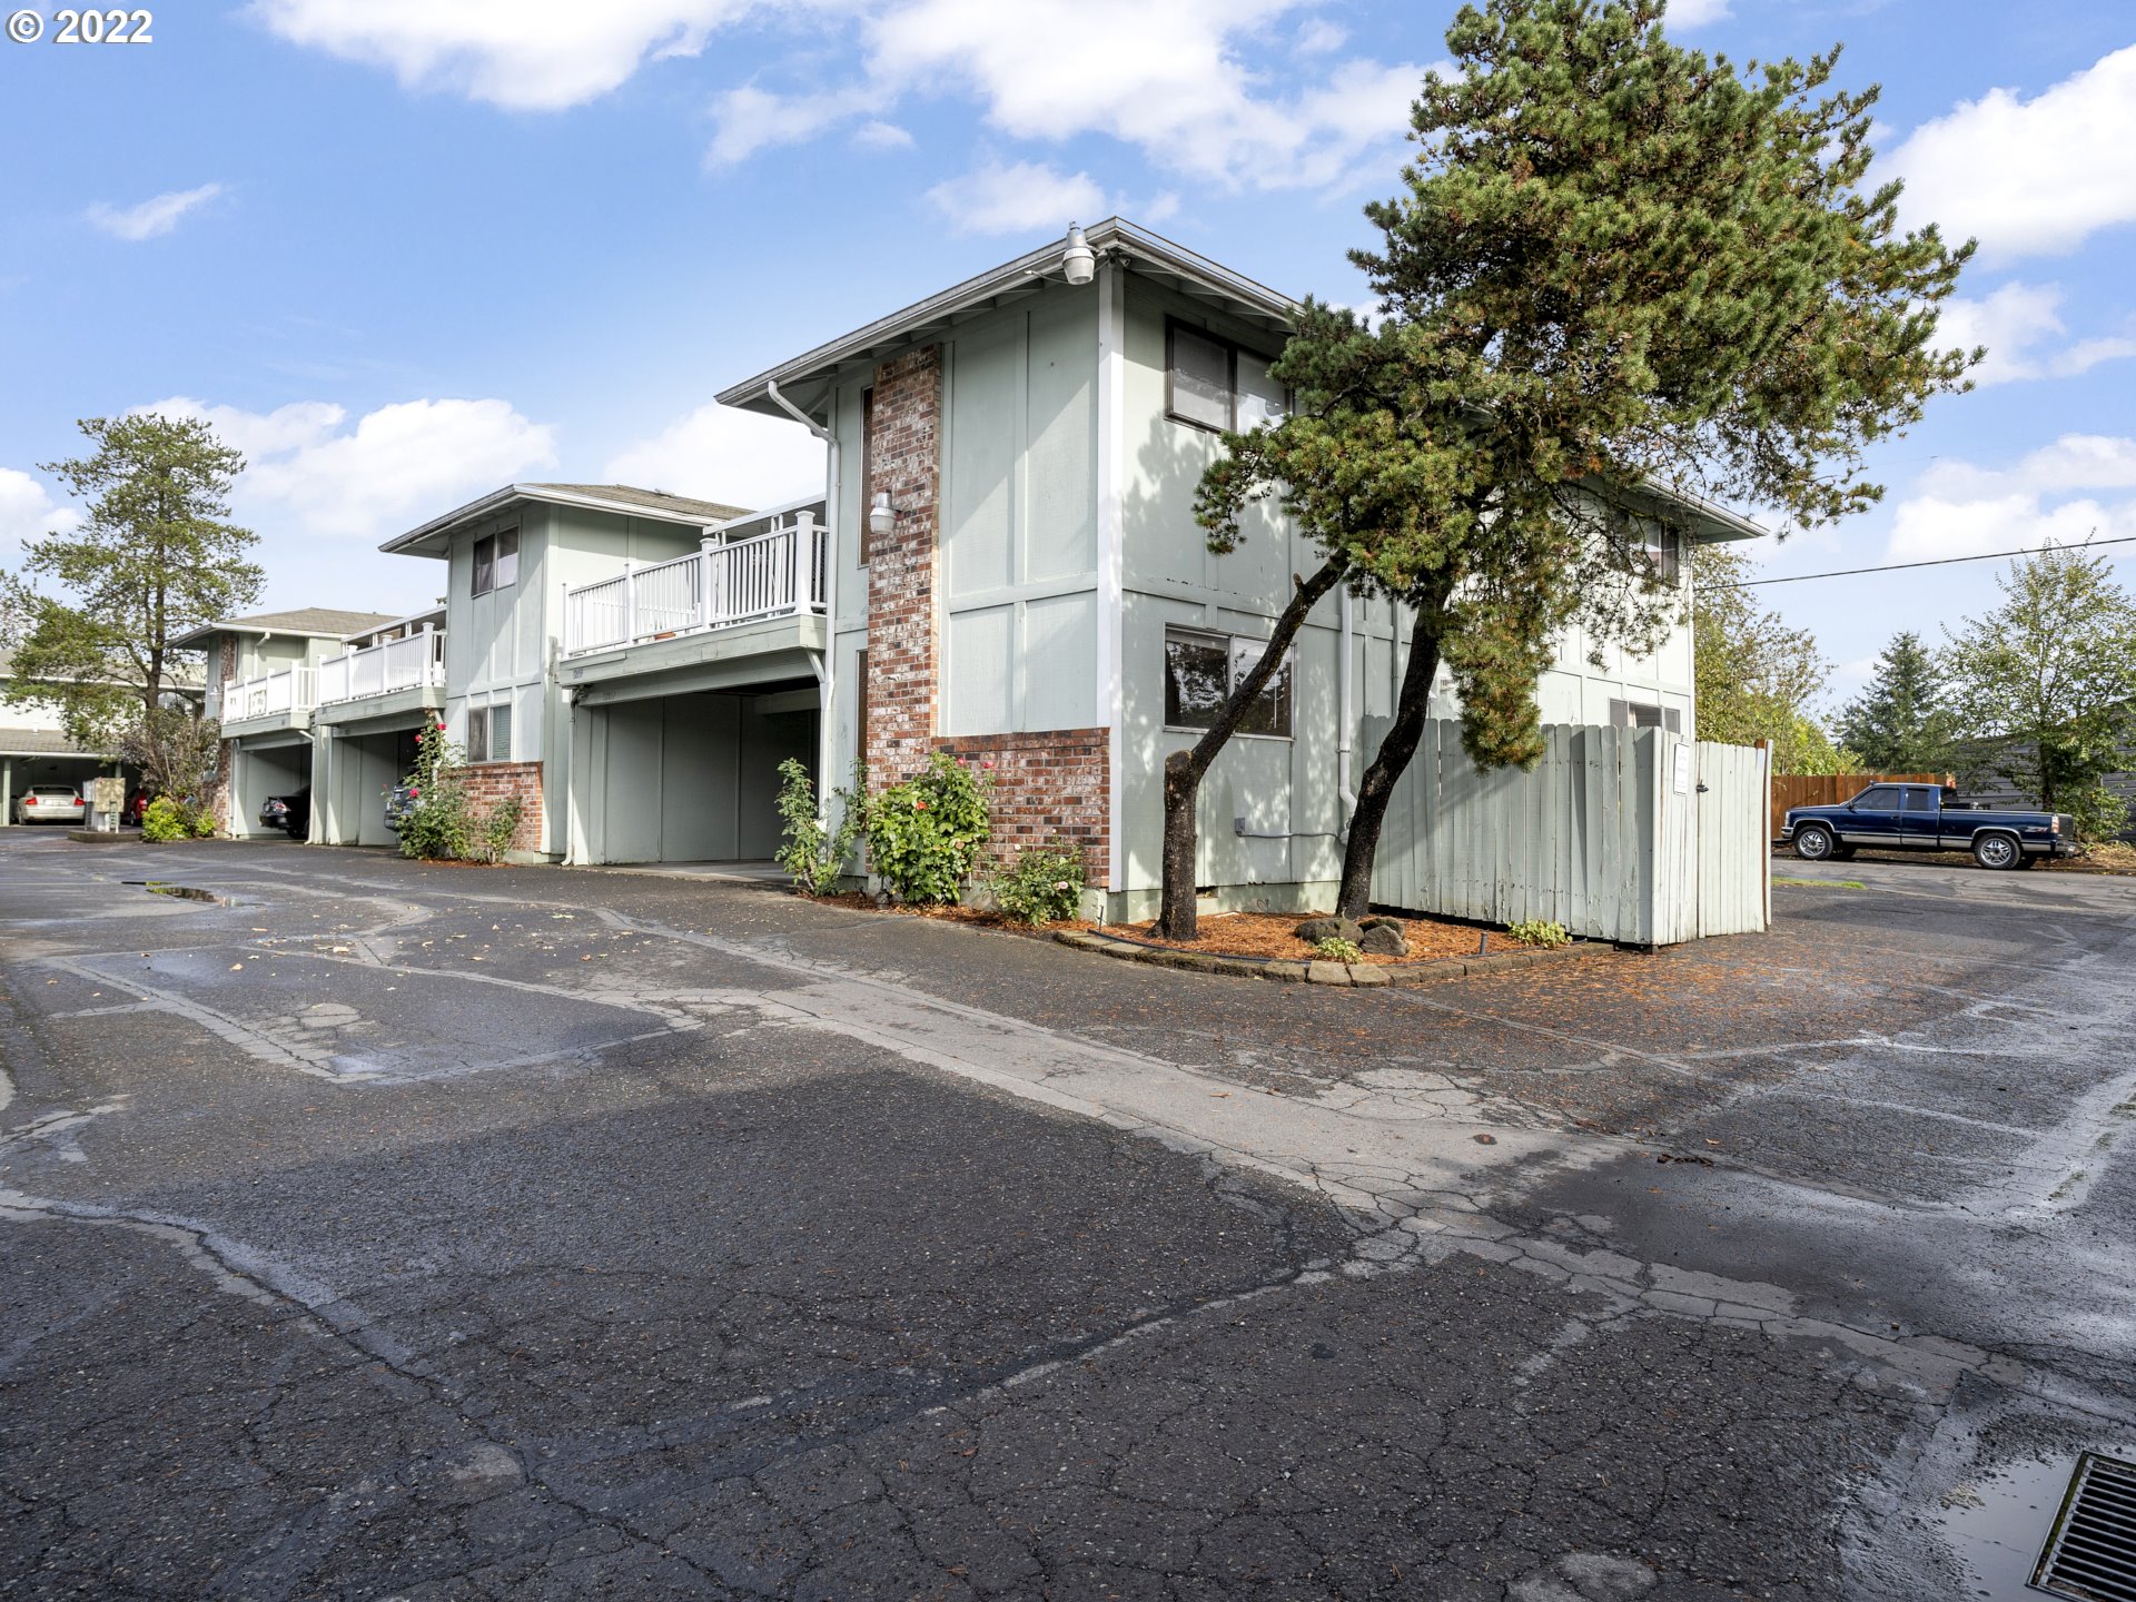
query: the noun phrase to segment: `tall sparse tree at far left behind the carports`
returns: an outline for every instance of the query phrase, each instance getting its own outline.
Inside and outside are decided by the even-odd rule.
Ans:
[[[244,457],[197,419],[90,417],[94,451],[47,461],[88,519],[28,547],[0,579],[15,654],[9,701],[49,701],[68,735],[113,750],[164,703],[171,641],[258,600],[256,543],[229,521]],[[51,585],[41,587],[38,581]]]

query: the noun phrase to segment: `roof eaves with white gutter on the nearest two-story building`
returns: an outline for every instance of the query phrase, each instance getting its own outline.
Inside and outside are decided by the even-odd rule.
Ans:
[[[1185,246],[1175,246],[1171,239],[1153,235],[1147,229],[1138,229],[1121,218],[1106,218],[1104,222],[1085,229],[1083,241],[1098,252],[1100,261],[1126,263],[1145,278],[1168,282],[1173,288],[1179,288],[1194,299],[1220,305],[1247,323],[1258,323],[1271,333],[1290,333],[1290,320],[1299,312],[1299,301],[1288,295],[1273,290],[1267,284],[1256,284],[1252,278],[1243,278],[1228,267],[1220,267],[1207,256],[1196,256]],[[946,331],[948,327],[980,316],[983,312],[991,312],[1006,301],[1036,295],[1047,273],[1059,271],[1062,250],[1066,248],[1068,237],[1062,235],[1059,239],[1025,252],[1015,261],[1004,261],[1000,267],[985,271],[978,278],[968,278],[955,288],[929,295],[925,301],[914,301],[901,312],[891,312],[889,316],[869,323],[865,329],[854,329],[852,333],[831,340],[829,344],[820,344],[792,361],[782,361],[769,372],[760,372],[731,389],[722,389],[718,402],[720,406],[745,406],[752,412],[765,412],[767,417],[788,417],[788,412],[771,399],[773,384],[780,389],[792,389],[795,384],[820,384],[822,389],[833,389],[848,374],[871,370],[876,361],[912,340]],[[814,397],[814,402],[820,404],[820,395]],[[803,404],[801,410],[812,410],[812,404]]]

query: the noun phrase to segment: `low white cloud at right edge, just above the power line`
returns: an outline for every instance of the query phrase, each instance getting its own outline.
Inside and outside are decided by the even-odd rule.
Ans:
[[[1890,562],[2025,551],[2136,534],[2136,440],[2063,434],[2008,468],[1939,461],[1892,517]],[[2093,491],[2093,493],[2085,493]]]

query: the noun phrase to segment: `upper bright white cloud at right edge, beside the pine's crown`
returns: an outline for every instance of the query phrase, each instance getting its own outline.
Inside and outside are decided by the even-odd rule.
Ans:
[[[2136,222],[2136,45],[2021,100],[1989,90],[1925,122],[1892,154],[1910,222],[1980,239],[1989,256],[2063,254]]]

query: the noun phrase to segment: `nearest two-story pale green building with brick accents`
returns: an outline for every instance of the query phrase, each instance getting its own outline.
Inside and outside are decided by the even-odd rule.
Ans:
[[[1111,220],[726,389],[722,404],[833,444],[829,771],[857,754],[876,780],[931,750],[987,760],[1008,846],[1079,842],[1106,914],[1147,912],[1164,758],[1258,656],[1290,575],[1318,566],[1273,504],[1228,555],[1194,521],[1220,429],[1286,406],[1269,363],[1294,314]],[[1692,538],[1758,532],[1675,511]],[[1596,669],[1587,654],[1576,632],[1561,641],[1546,722],[1692,735],[1687,628],[1649,658],[1604,651]],[[1393,716],[1403,660],[1399,609],[1316,609],[1203,790],[1198,878],[1220,901],[1326,904],[1352,767]],[[1438,709],[1455,711],[1450,688]]]

